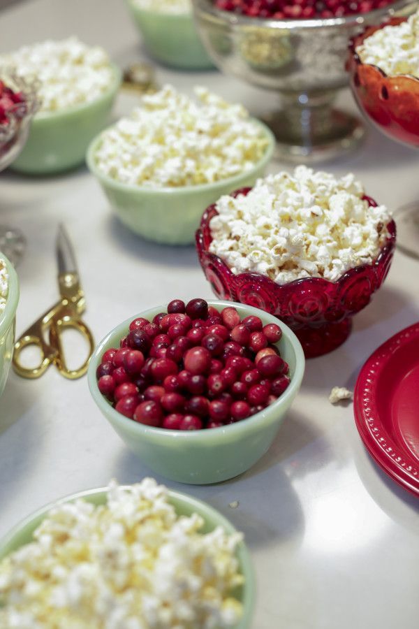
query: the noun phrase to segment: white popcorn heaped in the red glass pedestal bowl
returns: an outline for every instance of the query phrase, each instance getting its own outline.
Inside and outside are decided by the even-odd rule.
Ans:
[[[370,263],[387,236],[388,210],[369,208],[354,175],[340,179],[306,166],[256,182],[247,194],[222,196],[210,221],[210,252],[233,273],[262,273],[286,284],[302,277],[335,282]]]

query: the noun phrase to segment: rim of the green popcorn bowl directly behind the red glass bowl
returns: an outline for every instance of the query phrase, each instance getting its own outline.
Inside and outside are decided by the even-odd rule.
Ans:
[[[89,147],[87,148],[86,163],[92,175],[94,175],[104,186],[113,188],[114,190],[119,190],[119,191],[124,191],[124,192],[141,192],[142,194],[148,194],[149,196],[155,196],[162,193],[163,194],[176,194],[178,192],[182,192],[183,194],[195,194],[196,192],[203,192],[210,189],[216,189],[217,187],[221,188],[221,187],[225,187],[226,185],[228,185],[229,187],[231,186],[230,191],[233,192],[235,189],[237,189],[237,187],[241,187],[240,182],[242,181],[244,177],[251,176],[251,174],[254,173],[254,171],[258,171],[260,168],[265,168],[265,166],[267,166],[267,164],[270,162],[270,159],[272,158],[272,155],[274,153],[276,140],[274,138],[274,134],[272,133],[272,131],[269,129],[268,126],[263,124],[263,122],[260,122],[260,120],[258,120],[257,118],[250,117],[250,120],[252,120],[256,124],[258,124],[258,126],[260,126],[260,129],[265,133],[267,140],[269,140],[269,144],[266,147],[265,153],[263,154],[263,156],[260,158],[259,161],[256,161],[256,163],[253,164],[253,167],[250,168],[249,171],[242,171],[238,173],[237,175],[234,175],[233,177],[220,179],[218,181],[214,181],[211,183],[197,184],[197,185],[190,185],[190,186],[177,186],[177,187],[166,186],[166,187],[161,187],[161,188],[152,188],[152,187],[138,186],[138,185],[132,185],[132,184],[125,184],[115,179],[112,179],[111,177],[108,177],[108,175],[104,175],[103,173],[101,173],[101,171],[99,171],[99,169],[96,166],[96,163],[94,161],[94,154],[97,150],[99,143],[101,142],[103,133],[106,133],[107,131],[112,129],[112,127],[114,127],[116,123],[111,124],[106,129],[103,129],[101,133],[98,133],[96,138],[93,138],[93,140],[91,140],[91,143],[89,144]]]

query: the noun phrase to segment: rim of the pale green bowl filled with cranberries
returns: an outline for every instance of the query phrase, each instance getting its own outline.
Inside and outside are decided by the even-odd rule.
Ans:
[[[265,310],[260,310],[260,308],[253,308],[253,306],[248,306],[243,303],[237,303],[235,301],[207,300],[207,303],[208,305],[214,305],[214,307],[216,307],[216,305],[219,305],[222,308],[227,308],[228,306],[237,308],[238,306],[240,310],[246,310],[248,315],[256,315],[256,317],[258,317],[260,315],[260,312],[262,312],[265,317],[268,317],[270,319],[270,323],[276,323],[277,325],[279,325],[283,333],[282,338],[285,338],[286,342],[289,342],[289,344],[293,348],[293,351],[295,352],[295,373],[291,378],[291,382],[288,388],[284,391],[284,393],[281,394],[281,396],[279,396],[279,398],[277,398],[277,400],[275,400],[275,402],[273,402],[271,405],[261,410],[260,412],[255,413],[250,417],[247,417],[247,419],[237,421],[235,424],[228,424],[227,426],[220,426],[219,428],[211,428],[210,431],[212,438],[216,438],[217,436],[223,438],[222,435],[224,435],[224,433],[231,435],[232,437],[233,435],[240,437],[240,435],[243,436],[244,433],[247,432],[247,427],[249,426],[249,424],[255,424],[261,418],[274,414],[277,406],[282,405],[284,403],[284,400],[286,400],[287,398],[293,399],[298,389],[300,388],[302,377],[304,375],[304,352],[302,350],[300,341],[297,339],[291,328],[288,328],[288,326],[286,326],[283,321],[277,319],[277,317],[273,317],[268,312],[265,312]],[[161,310],[158,310],[159,308]],[[115,410],[115,408],[110,405],[108,400],[106,400],[106,398],[102,395],[97,386],[96,368],[100,363],[103,349],[105,345],[108,344],[110,338],[115,335],[115,333],[120,329],[128,328],[128,325],[136,317],[145,317],[147,319],[147,316],[151,316],[151,313],[153,313],[154,316],[154,313],[163,312],[164,310],[166,310],[166,308],[167,305],[155,306],[154,308],[149,308],[148,310],[144,310],[138,313],[138,315],[133,315],[133,317],[129,317],[129,319],[126,319],[121,324],[115,326],[115,328],[112,328],[112,330],[108,332],[108,334],[98,343],[94,350],[94,353],[91,356],[91,359],[89,361],[89,369],[87,370],[87,382],[89,384],[90,393],[94,399],[94,402],[98,406],[99,410],[101,410],[105,418],[106,414],[110,412],[112,414],[112,422],[115,422],[115,424],[119,424],[120,426],[122,426],[122,428],[129,426],[131,430],[137,432],[138,435],[161,435],[164,438],[170,435],[170,438],[176,439],[177,442],[179,442],[179,440],[189,440],[190,443],[205,442],[205,440],[208,438],[206,436],[206,430],[175,431],[170,430],[169,428],[155,428],[154,426],[145,426],[143,424],[139,424],[137,421],[133,421],[133,419],[125,417],[121,413],[117,412],[117,410]],[[158,436],[157,439],[159,439]]]

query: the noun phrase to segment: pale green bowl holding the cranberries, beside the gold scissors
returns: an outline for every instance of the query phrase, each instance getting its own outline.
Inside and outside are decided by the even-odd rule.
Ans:
[[[181,483],[209,484],[233,478],[249,470],[269,449],[277,435],[304,374],[304,353],[295,334],[279,319],[258,308],[231,301],[208,301],[217,310],[234,306],[242,318],[256,315],[263,324],[275,323],[282,329],[277,343],[281,356],[290,366],[291,383],[276,402],[248,419],[222,428],[202,431],[171,431],[138,424],[117,412],[98,390],[96,368],[103,353],[119,347],[119,340],[128,333],[135,317],[152,319],[166,306],[152,308],[126,319],[114,328],[96,347],[88,372],[89,389],[101,412],[118,435],[150,470]]]

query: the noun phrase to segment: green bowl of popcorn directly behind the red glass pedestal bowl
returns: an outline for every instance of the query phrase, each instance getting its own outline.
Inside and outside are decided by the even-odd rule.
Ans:
[[[267,126],[255,120],[269,144],[265,154],[251,171],[210,184],[182,187],[147,188],[120,183],[99,171],[95,154],[102,134],[93,140],[87,151],[87,166],[101,184],[108,201],[120,221],[147,240],[165,245],[190,245],[205,208],[223,194],[244,186],[253,186],[263,176],[274,152],[274,136]],[[105,132],[105,131],[104,131]]]

